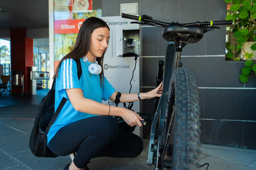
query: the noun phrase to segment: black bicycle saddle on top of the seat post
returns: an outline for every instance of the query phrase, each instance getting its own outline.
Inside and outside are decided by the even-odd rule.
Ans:
[[[163,31],[163,38],[166,41],[173,41],[175,38],[176,42],[188,42],[191,38],[189,43],[196,43],[200,41],[204,36],[204,31],[200,26],[183,26],[180,24],[170,24],[164,28]]]

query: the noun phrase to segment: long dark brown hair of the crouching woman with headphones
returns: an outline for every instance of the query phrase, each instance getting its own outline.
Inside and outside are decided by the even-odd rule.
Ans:
[[[91,34],[92,32],[97,29],[97,28],[102,28],[102,27],[107,27],[109,30],[108,25],[106,24],[105,21],[103,21],[100,18],[96,17],[90,17],[87,18],[82,26],[80,27],[80,30],[78,32],[78,35],[76,37],[76,43],[72,51],[65,55],[61,60],[60,63],[58,64],[56,70],[54,71],[54,76],[53,78],[58,78],[58,72],[60,68],[60,64],[62,61],[72,58],[72,59],[79,59],[83,58],[89,51],[90,48],[90,42],[91,42]],[[102,57],[97,57],[96,61],[98,64],[101,66],[101,73],[100,73],[100,85],[104,84],[104,72],[103,72],[103,58],[104,54],[106,52],[107,48],[105,49],[104,53],[102,54]],[[101,82],[103,80],[103,83]]]

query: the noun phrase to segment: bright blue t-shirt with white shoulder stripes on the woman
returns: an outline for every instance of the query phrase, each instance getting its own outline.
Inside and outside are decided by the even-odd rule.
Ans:
[[[109,97],[115,92],[115,89],[112,87],[112,85],[109,84],[105,77],[104,86],[100,86],[99,75],[91,74],[90,77],[90,72],[88,71],[87,65],[90,62],[87,61],[86,64],[82,58],[80,58],[80,62],[82,66],[82,75],[80,80],[78,80],[77,77],[77,66],[75,60],[67,59],[60,64],[58,78],[56,79],[55,86],[55,111],[63,97],[68,99],[68,95],[65,89],[82,89],[84,98],[91,99],[99,103],[101,103],[102,100],[108,100]],[[52,137],[54,137],[56,132],[63,126],[92,116],[98,115],[76,111],[71,105],[71,102],[67,100],[47,134],[47,144],[52,139]]]

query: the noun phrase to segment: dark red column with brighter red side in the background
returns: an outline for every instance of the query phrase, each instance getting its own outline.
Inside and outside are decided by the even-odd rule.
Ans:
[[[12,70],[23,71],[24,94],[29,94],[31,92],[29,69],[33,66],[33,39],[26,38],[26,29],[11,29],[10,37]],[[22,93],[22,88],[12,86],[12,93]]]

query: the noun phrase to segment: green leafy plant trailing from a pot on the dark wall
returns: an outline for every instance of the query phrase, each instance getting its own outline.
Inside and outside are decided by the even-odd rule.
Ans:
[[[230,11],[235,13],[227,15],[226,20],[233,20],[235,28],[232,30],[233,37],[236,40],[226,42],[228,58],[234,58],[235,61],[248,60],[245,62],[245,67],[242,69],[242,74],[239,76],[241,82],[248,81],[248,74],[256,76],[256,63],[252,65],[252,60],[256,60],[256,0],[225,0],[226,3],[232,3]],[[236,57],[239,54],[240,57]],[[235,56],[234,56],[235,55]],[[252,72],[254,71],[254,72]],[[255,74],[255,75],[254,75]]]

